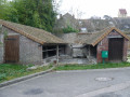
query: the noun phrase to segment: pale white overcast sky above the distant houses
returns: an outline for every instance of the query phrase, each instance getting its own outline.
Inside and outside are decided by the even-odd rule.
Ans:
[[[77,13],[81,12],[81,18],[89,18],[93,15],[117,17],[119,9],[126,9],[129,15],[130,0],[61,0],[60,13],[69,12],[77,16]]]

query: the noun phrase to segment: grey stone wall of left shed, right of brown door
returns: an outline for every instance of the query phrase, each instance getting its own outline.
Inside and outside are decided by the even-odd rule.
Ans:
[[[28,65],[41,65],[42,64],[42,46],[20,34],[15,31],[8,29],[5,27],[2,28],[2,32],[6,31],[8,36],[18,34],[20,36],[20,64]]]

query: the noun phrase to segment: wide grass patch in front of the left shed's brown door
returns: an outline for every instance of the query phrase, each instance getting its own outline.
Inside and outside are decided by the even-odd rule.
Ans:
[[[15,78],[32,74],[36,72],[44,71],[50,69],[52,66],[44,66],[37,68],[35,70],[27,70],[28,67],[32,65],[11,65],[11,64],[2,64],[0,65],[0,83],[4,81],[9,81]]]

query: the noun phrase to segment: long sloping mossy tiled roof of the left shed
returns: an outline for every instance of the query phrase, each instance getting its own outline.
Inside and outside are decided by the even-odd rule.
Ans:
[[[12,30],[14,30],[17,33],[21,33],[40,44],[44,44],[44,43],[65,43],[62,39],[53,36],[50,32],[47,32],[42,29],[39,28],[35,28],[35,27],[30,27],[30,26],[25,26],[25,25],[21,25],[21,24],[16,24],[16,23],[11,23],[11,22],[6,22],[6,20],[2,20],[0,19],[0,24],[2,26],[5,26],[6,28],[10,28]]]

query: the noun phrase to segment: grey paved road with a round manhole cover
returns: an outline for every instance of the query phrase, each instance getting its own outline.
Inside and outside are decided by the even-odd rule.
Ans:
[[[51,72],[2,87],[0,97],[130,97],[130,68]]]

